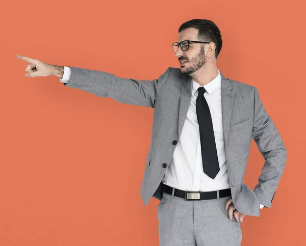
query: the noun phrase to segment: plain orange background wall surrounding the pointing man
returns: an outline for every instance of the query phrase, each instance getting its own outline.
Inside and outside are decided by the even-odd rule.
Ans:
[[[159,245],[157,207],[140,186],[153,108],[25,77],[28,63],[158,78],[179,67],[179,26],[213,20],[218,69],[256,86],[288,151],[271,209],[244,217],[242,245],[304,245],[303,1],[5,1],[1,21],[0,245]],[[244,181],[264,158],[252,141]]]

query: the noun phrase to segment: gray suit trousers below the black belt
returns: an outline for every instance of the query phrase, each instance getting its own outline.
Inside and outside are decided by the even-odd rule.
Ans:
[[[164,192],[157,211],[160,246],[240,245],[241,222],[225,210],[230,198],[188,201]]]

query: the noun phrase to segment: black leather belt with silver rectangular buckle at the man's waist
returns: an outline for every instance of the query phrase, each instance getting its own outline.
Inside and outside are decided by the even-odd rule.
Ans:
[[[165,193],[172,195],[173,187],[165,185]],[[174,196],[185,198],[185,200],[209,200],[217,199],[217,190],[212,192],[189,192],[181,189],[174,188]],[[231,188],[219,189],[219,198],[232,196]]]

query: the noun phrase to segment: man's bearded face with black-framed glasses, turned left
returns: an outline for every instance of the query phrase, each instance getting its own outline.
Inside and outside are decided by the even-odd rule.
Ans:
[[[177,42],[181,42],[183,40],[200,41],[198,40],[197,35],[197,29],[185,29],[180,33]],[[205,44],[201,43],[190,43],[187,50],[184,51],[181,49],[181,47],[176,50],[175,56],[179,58],[182,73],[191,75],[206,63],[204,46]],[[181,61],[187,62],[181,63]]]

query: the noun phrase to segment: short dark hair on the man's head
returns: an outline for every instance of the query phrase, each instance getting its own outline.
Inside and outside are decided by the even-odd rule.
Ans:
[[[222,47],[222,38],[218,26],[211,20],[193,19],[183,23],[179,28],[179,33],[181,33],[184,29],[187,28],[197,29],[198,39],[200,41],[215,43],[215,57],[217,59]]]

